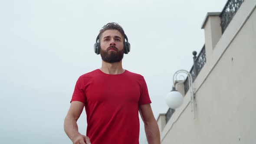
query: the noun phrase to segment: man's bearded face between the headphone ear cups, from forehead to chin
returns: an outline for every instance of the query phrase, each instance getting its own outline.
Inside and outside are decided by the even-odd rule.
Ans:
[[[108,29],[102,33],[100,47],[100,55],[105,62],[120,62],[124,57],[124,39],[116,29]]]

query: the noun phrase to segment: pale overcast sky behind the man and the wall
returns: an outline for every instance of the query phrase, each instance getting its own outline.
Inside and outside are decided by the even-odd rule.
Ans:
[[[0,143],[71,144],[63,130],[75,82],[101,66],[93,52],[103,25],[131,43],[124,69],[144,76],[155,118],[166,113],[172,76],[190,70],[204,44],[207,12],[226,0],[1,0]],[[86,115],[78,121],[85,134]],[[140,142],[146,144],[141,124]]]

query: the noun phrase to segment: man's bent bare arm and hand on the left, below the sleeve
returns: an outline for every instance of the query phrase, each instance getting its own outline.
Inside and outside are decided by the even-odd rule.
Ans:
[[[78,131],[77,120],[84,108],[84,103],[72,101],[68,114],[64,120],[64,131],[73,142],[73,144],[91,144],[89,137],[82,135]]]

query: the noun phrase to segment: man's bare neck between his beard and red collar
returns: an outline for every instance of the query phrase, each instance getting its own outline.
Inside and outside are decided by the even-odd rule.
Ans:
[[[122,61],[114,63],[102,61],[102,67],[100,68],[100,70],[110,75],[117,75],[125,72],[125,69],[123,69],[122,67]]]

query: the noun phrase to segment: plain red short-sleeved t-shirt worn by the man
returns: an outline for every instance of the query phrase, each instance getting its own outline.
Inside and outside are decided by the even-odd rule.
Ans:
[[[79,77],[71,101],[85,104],[92,144],[139,144],[139,105],[151,103],[143,76],[96,69]]]

